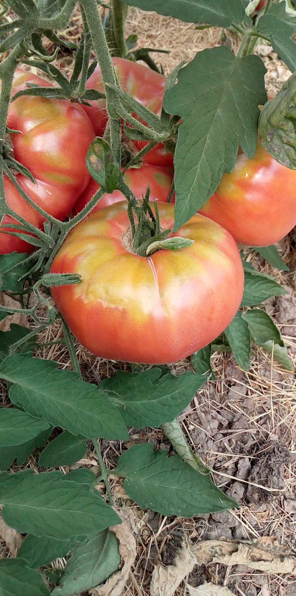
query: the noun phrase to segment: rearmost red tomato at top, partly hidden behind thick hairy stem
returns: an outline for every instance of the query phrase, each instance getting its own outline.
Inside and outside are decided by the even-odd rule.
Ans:
[[[145,105],[155,114],[160,113],[166,78],[138,62],[132,62],[124,58],[112,58],[112,60],[123,91],[135,97],[139,103]],[[104,84],[99,66],[96,66],[86,86],[88,89],[96,89],[104,93]],[[95,134],[102,136],[108,119],[105,108],[106,102],[105,100],[96,100],[88,103],[91,105],[83,105],[83,108],[94,126]],[[136,116],[136,114],[133,115]],[[147,142],[131,141],[131,144],[139,151],[147,145]],[[143,161],[155,166],[172,166],[173,154],[167,151],[163,143],[160,143],[144,156]]]

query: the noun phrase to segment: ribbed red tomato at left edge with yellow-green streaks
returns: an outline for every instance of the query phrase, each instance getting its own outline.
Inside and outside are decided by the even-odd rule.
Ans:
[[[17,70],[13,95],[20,89],[27,89],[27,82],[49,85],[30,72]],[[11,134],[14,157],[32,172],[37,184],[20,173],[16,176],[17,181],[47,213],[65,219],[91,178],[85,159],[95,135],[85,111],[80,105],[68,101],[21,96],[10,104],[7,125],[21,131],[21,134]],[[4,189],[8,206],[41,228],[45,221],[43,216],[26,203],[7,176]],[[4,216],[1,223],[13,222],[13,218]],[[14,250],[30,253],[34,247],[13,235],[0,234],[0,253]]]

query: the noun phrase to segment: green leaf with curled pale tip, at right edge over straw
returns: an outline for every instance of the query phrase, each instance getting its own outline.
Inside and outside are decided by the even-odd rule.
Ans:
[[[245,312],[242,318],[247,322],[253,342],[257,343],[269,353],[273,352],[274,358],[283,365],[288,371],[293,371],[294,367],[289,359],[285,343],[278,327],[274,324],[272,318],[266,312],[260,309],[253,309]]]

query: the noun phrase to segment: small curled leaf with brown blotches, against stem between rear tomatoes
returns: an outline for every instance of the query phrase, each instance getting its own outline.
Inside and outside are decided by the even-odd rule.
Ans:
[[[105,139],[96,136],[94,141],[91,142],[86,155],[86,167],[92,178],[107,193],[113,193],[119,187],[120,165],[116,162],[111,147]]]

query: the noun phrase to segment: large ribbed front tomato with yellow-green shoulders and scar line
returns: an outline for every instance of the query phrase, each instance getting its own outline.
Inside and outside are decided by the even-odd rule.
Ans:
[[[159,203],[158,209],[161,228],[173,228],[173,205]],[[128,235],[127,201],[77,224],[51,271],[80,274],[82,283],[52,288],[54,302],[96,355],[146,364],[179,361],[222,333],[239,308],[244,272],[238,247],[200,214],[176,232],[194,240],[180,250],[138,256],[129,250]]]

